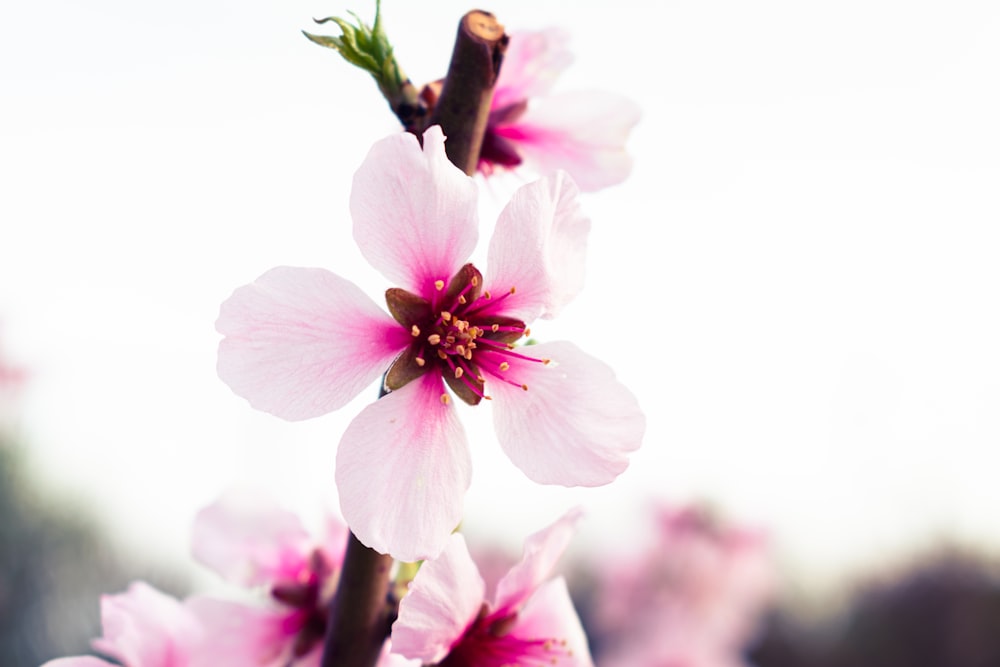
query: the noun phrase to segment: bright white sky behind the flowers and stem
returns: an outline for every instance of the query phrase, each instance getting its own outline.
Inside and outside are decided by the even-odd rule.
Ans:
[[[415,81],[472,8],[384,0]],[[572,33],[561,90],[644,109],[633,177],[584,204],[587,288],[534,333],[611,363],[649,429],[615,484],[573,491],[471,427],[469,530],[520,538],[583,503],[581,539],[614,542],[650,497],[705,498],[813,586],[940,537],[1000,548],[1000,5],[482,8]],[[335,504],[336,443],[375,389],[306,423],[256,413],[215,376],[213,322],[276,265],[387,287],[347,201],[395,121],[299,33],[348,9],[373,2],[5,8],[0,335],[34,374],[39,478],[127,548],[185,559],[230,483]]]

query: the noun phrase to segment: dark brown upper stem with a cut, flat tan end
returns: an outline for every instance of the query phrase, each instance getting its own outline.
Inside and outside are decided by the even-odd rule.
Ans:
[[[448,138],[448,158],[470,176],[479,165],[493,87],[507,41],[503,26],[493,14],[473,10],[462,17],[448,76],[428,122],[441,126]]]

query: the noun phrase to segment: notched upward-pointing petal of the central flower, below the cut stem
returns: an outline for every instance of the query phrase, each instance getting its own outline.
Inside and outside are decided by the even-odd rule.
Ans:
[[[437,125],[417,138],[401,132],[376,143],[354,175],[354,240],[395,285],[432,294],[472,254],[479,238],[473,179],[444,151]]]

